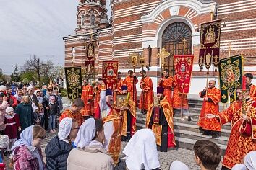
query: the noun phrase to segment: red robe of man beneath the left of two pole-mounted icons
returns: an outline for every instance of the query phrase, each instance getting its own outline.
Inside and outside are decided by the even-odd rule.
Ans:
[[[127,91],[130,93],[130,99],[132,99],[136,105],[137,105],[137,89],[136,89],[137,82],[138,82],[138,79],[136,78],[135,80],[133,76],[132,77],[127,76],[124,79],[124,84],[127,85]]]

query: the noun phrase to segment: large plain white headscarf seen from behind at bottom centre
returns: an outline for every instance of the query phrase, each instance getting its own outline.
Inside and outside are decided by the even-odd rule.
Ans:
[[[125,162],[128,169],[150,170],[160,167],[155,135],[150,129],[138,130],[125,146],[123,153],[127,156]]]

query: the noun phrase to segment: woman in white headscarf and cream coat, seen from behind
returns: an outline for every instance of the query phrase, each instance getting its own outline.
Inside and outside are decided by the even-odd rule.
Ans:
[[[85,120],[77,133],[77,138],[74,140],[77,148],[72,149],[67,158],[67,169],[114,169],[113,159],[103,148],[104,138],[103,122],[101,120],[94,118]]]

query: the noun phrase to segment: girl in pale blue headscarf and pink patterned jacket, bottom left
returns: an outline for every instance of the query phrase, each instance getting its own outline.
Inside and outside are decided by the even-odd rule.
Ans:
[[[40,125],[32,125],[22,131],[20,139],[12,146],[14,169],[46,169],[40,149],[40,143],[44,138],[46,138],[46,130]]]

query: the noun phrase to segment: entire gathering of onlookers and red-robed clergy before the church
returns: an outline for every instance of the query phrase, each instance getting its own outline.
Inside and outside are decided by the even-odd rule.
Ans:
[[[160,169],[158,151],[166,152],[176,147],[174,115],[181,112],[187,120],[191,120],[187,94],[179,93],[176,77],[169,76],[168,70],[165,70],[158,82],[158,101],[155,102],[150,77],[146,71],[140,71],[140,75],[142,94],[139,100],[135,86],[139,81],[135,73],[128,71],[123,80],[119,72],[112,89],[106,88],[101,78],[93,84],[85,80],[82,97],[74,99],[63,112],[61,96],[55,84],[42,90],[35,90],[33,86],[28,86],[26,90],[22,87],[20,93],[17,89],[17,97],[14,98],[17,100],[20,97],[21,102],[16,106],[15,102],[7,100],[12,95],[8,95],[11,90],[0,86],[6,95],[0,98],[3,101],[1,107],[6,106],[2,109],[4,117],[12,118],[12,122],[1,124],[2,130],[5,132],[10,123],[17,133],[13,140],[9,140],[8,148],[12,151],[14,169],[25,169],[23,166],[26,169]],[[210,80],[209,86],[200,92],[203,104],[198,125],[203,130],[202,135],[216,138],[216,132],[221,132],[221,125],[232,122],[231,136],[222,161],[223,170],[242,166],[250,170],[256,167],[255,131],[252,126],[256,120],[256,88],[252,85],[253,77],[248,73],[245,76],[247,84],[236,88],[237,101],[222,112],[218,111],[220,97],[215,81]],[[125,100],[120,100],[120,106],[119,94],[127,95]],[[246,113],[242,112],[243,98],[247,102]],[[146,123],[145,129],[136,131],[137,107],[146,115]],[[40,142],[46,138],[47,130],[49,133],[56,132],[56,117],[59,117],[59,131],[46,146],[45,165]],[[247,130],[248,127],[251,131]],[[123,151],[125,158],[122,159],[119,158],[121,141],[128,142]],[[194,152],[200,169],[216,169],[221,162],[221,149],[209,140],[197,140]],[[170,169],[188,167],[174,161]]]

